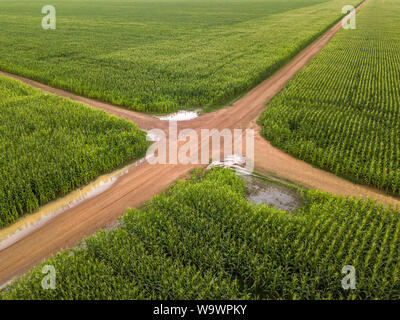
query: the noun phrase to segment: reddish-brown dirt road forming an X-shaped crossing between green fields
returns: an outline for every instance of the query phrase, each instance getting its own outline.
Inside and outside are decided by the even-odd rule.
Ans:
[[[340,23],[335,25],[323,37],[302,51],[287,66],[238,100],[234,106],[205,114],[191,121],[181,122],[179,129],[257,128],[255,121],[265,108],[265,103],[275,96],[293,75],[329,42],[340,27]],[[132,120],[146,130],[166,129],[168,126],[167,122],[159,121],[149,115],[120,109],[63,90],[50,88],[26,78],[1,73],[43,91],[68,97]],[[56,216],[15,244],[0,251],[0,284],[20,275],[60,249],[71,247],[83,237],[113,224],[126,208],[140,206],[187,173],[189,169],[195,167],[200,167],[200,165],[150,165],[147,162],[142,163],[120,177],[108,190]],[[313,168],[303,161],[294,159],[273,148],[258,134],[255,139],[255,170],[261,173],[272,173],[302,185],[335,194],[370,197],[387,204],[400,204],[399,200],[377,190],[355,185],[333,174]]]

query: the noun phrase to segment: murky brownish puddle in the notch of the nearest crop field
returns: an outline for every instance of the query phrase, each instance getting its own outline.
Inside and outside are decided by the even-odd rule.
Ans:
[[[291,213],[303,205],[301,197],[291,187],[253,175],[242,178],[247,183],[246,198],[252,203],[274,206]]]

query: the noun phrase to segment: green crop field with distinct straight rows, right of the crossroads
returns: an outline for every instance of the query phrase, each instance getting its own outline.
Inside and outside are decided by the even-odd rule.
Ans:
[[[400,194],[400,3],[370,0],[275,98],[263,135],[290,154]]]

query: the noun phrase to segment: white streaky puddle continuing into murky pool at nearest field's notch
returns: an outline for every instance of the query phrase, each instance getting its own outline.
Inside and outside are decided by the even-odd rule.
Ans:
[[[246,158],[231,155],[224,158],[223,161],[212,162],[208,168],[218,166],[235,170],[246,181],[246,198],[252,203],[274,206],[290,213],[295,213],[302,207],[302,199],[295,188],[249,172],[244,168],[245,163]]]

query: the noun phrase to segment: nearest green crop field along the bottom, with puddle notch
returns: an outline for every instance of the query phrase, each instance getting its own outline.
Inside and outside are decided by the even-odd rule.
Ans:
[[[212,190],[212,192],[210,192]],[[304,191],[296,214],[251,205],[229,169],[181,182],[112,231],[41,266],[4,299],[399,299],[400,215],[372,201]],[[344,290],[343,266],[356,270]]]

